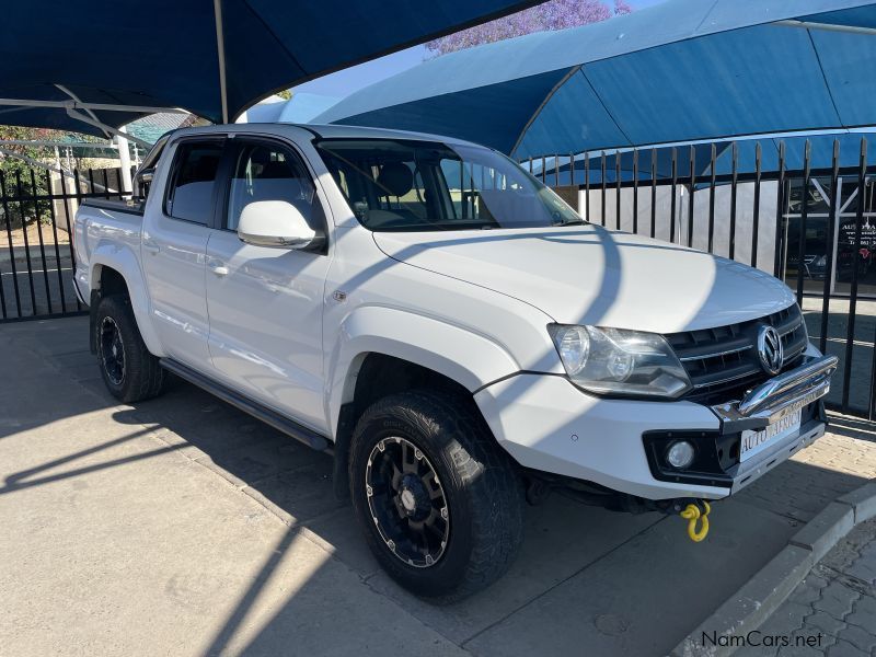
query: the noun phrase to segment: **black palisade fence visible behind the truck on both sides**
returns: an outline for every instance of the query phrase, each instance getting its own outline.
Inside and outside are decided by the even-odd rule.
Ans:
[[[812,342],[840,359],[829,406],[872,419],[876,149],[852,136],[764,143],[542,155],[523,165],[592,222],[783,279]],[[73,216],[85,198],[123,198],[119,180],[118,169],[0,171],[0,321],[85,310],[72,287]]]

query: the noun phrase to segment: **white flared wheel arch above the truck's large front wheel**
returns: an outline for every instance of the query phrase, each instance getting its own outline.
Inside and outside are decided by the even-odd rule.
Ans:
[[[341,406],[353,400],[351,374],[371,353],[428,368],[472,392],[521,369],[503,345],[472,330],[395,308],[357,308],[338,327],[328,359],[325,404],[333,436]]]

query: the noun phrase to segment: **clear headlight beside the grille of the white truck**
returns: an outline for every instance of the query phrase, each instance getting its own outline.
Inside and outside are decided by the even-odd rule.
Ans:
[[[691,388],[661,335],[622,328],[550,324],[569,379],[598,394],[678,397]]]

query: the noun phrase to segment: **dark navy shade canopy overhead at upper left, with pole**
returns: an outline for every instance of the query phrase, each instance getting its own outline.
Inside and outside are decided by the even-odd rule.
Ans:
[[[164,108],[228,122],[277,90],[538,3],[15,2],[0,26],[0,124],[101,135]]]

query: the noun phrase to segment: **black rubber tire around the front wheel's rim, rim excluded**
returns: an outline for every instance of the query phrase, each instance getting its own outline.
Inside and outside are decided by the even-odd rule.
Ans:
[[[390,549],[369,507],[369,456],[390,437],[402,437],[422,450],[447,499],[449,540],[440,558],[425,568],[410,566]],[[349,481],[371,552],[395,581],[417,596],[436,603],[460,600],[498,579],[517,556],[523,527],[522,481],[471,399],[412,391],[376,402],[356,425]]]

